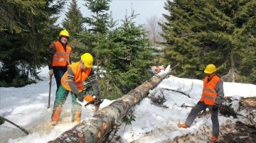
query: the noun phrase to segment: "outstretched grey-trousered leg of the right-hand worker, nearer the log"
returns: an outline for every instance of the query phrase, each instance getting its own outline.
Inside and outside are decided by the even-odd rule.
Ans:
[[[196,119],[196,115],[198,115],[199,112],[202,110],[205,110],[207,108],[207,105],[203,102],[198,102],[192,109],[191,112],[188,114],[188,117],[186,118],[185,124],[188,127],[191,127],[193,120]]]

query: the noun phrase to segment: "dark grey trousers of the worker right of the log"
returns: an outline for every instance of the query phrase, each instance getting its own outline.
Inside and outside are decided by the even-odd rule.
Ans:
[[[202,110],[205,110],[206,108],[209,108],[211,117],[210,119],[213,122],[213,135],[218,136],[220,132],[219,122],[218,122],[218,110],[213,110],[212,105],[206,105],[204,102],[198,102],[192,109],[191,113],[188,114],[188,118],[186,118],[185,124],[188,125],[188,127],[191,127],[193,120],[195,120],[196,115],[198,115],[199,112]]]

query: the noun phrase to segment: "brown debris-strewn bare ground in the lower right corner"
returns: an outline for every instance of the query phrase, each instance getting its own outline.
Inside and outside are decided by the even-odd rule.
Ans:
[[[225,98],[228,103],[233,101],[232,98]],[[225,125],[220,127],[220,136],[217,142],[227,143],[255,143],[256,142],[256,97],[241,98],[239,101],[238,110],[231,108],[230,104],[220,108],[220,114],[224,116],[233,116],[238,118],[237,122],[228,120]],[[172,141],[167,142],[209,142],[210,132],[208,127],[202,127],[204,131],[198,134],[186,134],[180,137],[175,137]],[[206,133],[208,132],[208,133]],[[204,134],[206,133],[206,134]]]

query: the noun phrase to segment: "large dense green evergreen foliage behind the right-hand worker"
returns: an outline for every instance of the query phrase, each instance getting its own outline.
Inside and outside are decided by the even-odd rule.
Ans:
[[[230,81],[256,82],[256,1],[174,0],[164,8],[170,14],[161,24],[165,58],[180,63],[176,75],[203,79],[203,69],[213,63],[222,76],[233,71]]]

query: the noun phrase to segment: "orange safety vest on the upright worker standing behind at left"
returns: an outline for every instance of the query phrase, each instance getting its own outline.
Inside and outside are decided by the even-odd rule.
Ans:
[[[70,52],[72,48],[69,45],[66,45],[66,51],[65,51],[60,41],[53,42],[53,44],[56,47],[56,52],[53,55],[53,67],[55,66],[65,67],[67,63],[70,64]]]

